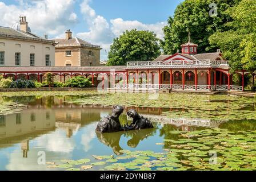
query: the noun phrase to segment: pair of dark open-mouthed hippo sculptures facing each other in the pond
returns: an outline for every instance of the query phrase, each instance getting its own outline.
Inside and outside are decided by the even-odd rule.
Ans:
[[[153,124],[149,119],[143,118],[137,113],[136,110],[131,109],[127,112],[127,115],[133,118],[131,125],[121,126],[119,121],[119,116],[123,113],[125,108],[123,106],[114,106],[113,111],[110,115],[103,118],[97,125],[96,131],[99,133],[111,133],[118,131],[127,131],[127,130],[142,130],[142,129],[152,129]]]

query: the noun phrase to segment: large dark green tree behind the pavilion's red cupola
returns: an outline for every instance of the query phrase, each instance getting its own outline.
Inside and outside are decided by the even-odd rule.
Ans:
[[[227,30],[226,22],[232,18],[225,10],[233,7],[241,0],[215,0],[217,16],[210,16],[212,0],[185,0],[177,6],[174,16],[170,17],[161,47],[165,54],[173,54],[187,41],[190,31],[193,42],[198,44],[198,52],[216,52],[217,46],[210,45],[209,36],[218,30]]]

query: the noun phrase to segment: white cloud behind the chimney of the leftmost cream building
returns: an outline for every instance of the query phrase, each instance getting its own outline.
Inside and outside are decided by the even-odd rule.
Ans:
[[[19,1],[18,5],[5,5],[0,2],[0,24],[11,27],[23,15],[27,16],[33,32],[58,35],[77,22],[74,3],[74,0]]]

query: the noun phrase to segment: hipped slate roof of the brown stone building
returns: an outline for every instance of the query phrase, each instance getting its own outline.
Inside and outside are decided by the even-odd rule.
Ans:
[[[85,46],[85,47],[94,47],[100,48],[99,46],[95,46],[85,40],[79,38],[72,38],[72,39],[53,39],[55,43],[58,43],[56,47],[68,47],[68,46]]]

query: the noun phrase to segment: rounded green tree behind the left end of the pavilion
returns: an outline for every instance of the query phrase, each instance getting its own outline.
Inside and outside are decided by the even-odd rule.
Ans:
[[[154,32],[126,30],[119,38],[115,38],[110,46],[107,65],[125,65],[127,61],[153,60],[161,54],[158,43],[159,39]]]

